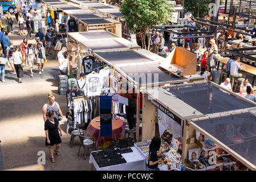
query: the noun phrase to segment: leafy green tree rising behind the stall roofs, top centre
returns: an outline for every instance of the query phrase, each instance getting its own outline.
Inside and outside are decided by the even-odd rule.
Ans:
[[[132,32],[140,30],[143,48],[145,32],[155,24],[169,24],[172,20],[173,5],[166,0],[123,0],[120,12]]]

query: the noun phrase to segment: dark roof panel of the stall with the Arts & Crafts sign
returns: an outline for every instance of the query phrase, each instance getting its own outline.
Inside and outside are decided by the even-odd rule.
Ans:
[[[220,90],[210,82],[168,87],[168,91],[203,114],[245,109],[256,105]]]

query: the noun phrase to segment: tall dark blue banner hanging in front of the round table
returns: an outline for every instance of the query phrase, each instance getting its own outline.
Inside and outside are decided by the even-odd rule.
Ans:
[[[100,137],[112,137],[111,96],[100,96]]]

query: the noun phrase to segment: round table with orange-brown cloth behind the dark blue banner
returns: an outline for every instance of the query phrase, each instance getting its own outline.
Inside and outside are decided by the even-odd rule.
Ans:
[[[111,146],[112,140],[121,139],[121,135],[125,131],[125,125],[121,119],[112,119],[112,137],[100,137],[100,122],[96,122],[96,120],[100,120],[100,117],[92,119],[90,125],[87,127],[86,135],[96,138],[97,148],[107,148]]]

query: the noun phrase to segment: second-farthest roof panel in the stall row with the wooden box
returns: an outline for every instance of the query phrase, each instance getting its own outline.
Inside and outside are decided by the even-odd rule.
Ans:
[[[121,44],[117,43],[113,39],[101,39],[101,40],[90,40],[90,41],[81,41],[84,45],[92,49],[92,51],[95,50],[101,50],[101,49],[117,49],[117,48],[124,48]]]

